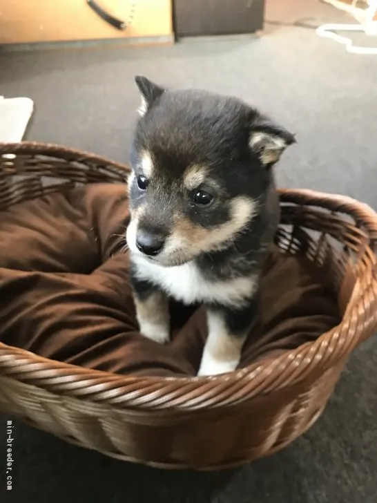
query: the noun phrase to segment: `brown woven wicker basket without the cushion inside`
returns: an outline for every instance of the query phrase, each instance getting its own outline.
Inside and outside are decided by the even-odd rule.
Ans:
[[[61,146],[0,144],[0,211],[76,184],[124,183],[127,172]],[[377,215],[343,196],[280,196],[278,245],[327,267],[340,325],[273,361],[191,379],[124,377],[0,344],[0,409],[68,442],[165,468],[234,466],[292,442],[320,416],[351,351],[376,330]]]

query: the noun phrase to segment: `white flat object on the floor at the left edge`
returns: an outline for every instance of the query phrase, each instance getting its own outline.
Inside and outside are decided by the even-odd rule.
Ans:
[[[30,98],[0,96],[0,142],[21,142],[33,109]]]

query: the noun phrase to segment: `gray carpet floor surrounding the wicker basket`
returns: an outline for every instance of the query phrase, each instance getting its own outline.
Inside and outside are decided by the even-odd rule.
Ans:
[[[336,18],[332,10],[321,9],[316,15]],[[281,20],[278,10],[269,15],[274,12],[273,19]],[[135,74],[171,86],[238,95],[297,133],[298,144],[278,168],[280,186],[345,193],[377,208],[377,57],[349,55],[313,30],[270,26],[259,39],[169,48],[0,52],[0,69],[1,94],[35,100],[30,140],[68,144],[121,161],[128,158],[139,102]],[[372,502],[377,493],[376,418],[375,337],[351,357],[316,426],[272,457],[222,473],[169,473],[68,446],[17,423],[14,488],[0,500]],[[1,433],[5,420],[0,419]],[[1,470],[5,459],[3,447]],[[0,494],[3,489],[1,479]]]

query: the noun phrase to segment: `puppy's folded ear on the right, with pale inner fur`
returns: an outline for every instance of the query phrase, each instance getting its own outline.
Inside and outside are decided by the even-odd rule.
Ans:
[[[293,143],[296,140],[289,131],[269,122],[254,124],[249,137],[251,150],[266,167],[278,162],[287,146]]]

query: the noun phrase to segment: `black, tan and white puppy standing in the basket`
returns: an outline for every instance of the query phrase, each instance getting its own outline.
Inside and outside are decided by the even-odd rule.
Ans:
[[[126,239],[139,328],[166,343],[168,296],[202,303],[208,337],[198,375],[231,372],[258,314],[279,222],[272,168],[295,140],[234,97],[135,80],[142,104]]]

